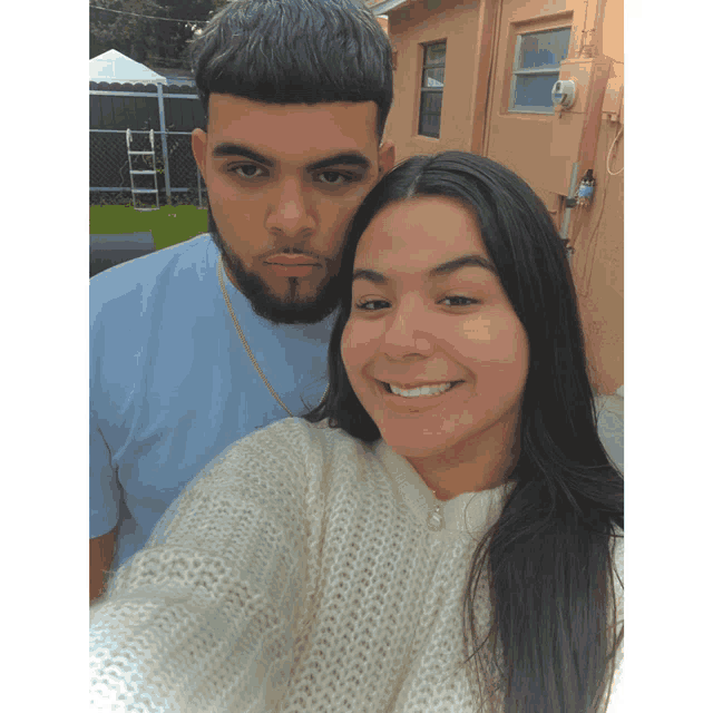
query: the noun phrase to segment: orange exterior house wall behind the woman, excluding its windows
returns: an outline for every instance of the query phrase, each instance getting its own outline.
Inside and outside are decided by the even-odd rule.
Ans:
[[[569,212],[567,237],[595,388],[624,383],[623,0],[411,0],[389,11],[394,104],[385,138],[397,159],[459,149],[484,154],[522,176],[558,228],[565,199],[587,168],[588,207]],[[508,110],[518,33],[570,27],[560,79],[577,81],[572,109]],[[422,45],[446,40],[439,138],[418,135]],[[618,136],[618,138],[617,138]],[[609,170],[606,158],[614,139]]]

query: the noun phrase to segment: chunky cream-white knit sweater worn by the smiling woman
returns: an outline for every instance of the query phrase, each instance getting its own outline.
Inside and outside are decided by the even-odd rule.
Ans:
[[[432,533],[432,494],[383,441],[302,419],[237,441],[91,608],[91,710],[476,710],[462,594],[509,487],[446,502]]]

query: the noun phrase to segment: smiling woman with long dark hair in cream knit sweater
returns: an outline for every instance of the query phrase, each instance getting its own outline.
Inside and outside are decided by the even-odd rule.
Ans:
[[[469,154],[389,174],[329,360],[323,403],[225,451],[118,573],[96,710],[603,711],[623,479],[539,199]]]

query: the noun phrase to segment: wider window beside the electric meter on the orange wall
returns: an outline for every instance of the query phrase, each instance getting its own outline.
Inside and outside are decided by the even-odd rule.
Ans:
[[[567,57],[569,28],[518,35],[512,65],[510,111],[554,114],[553,86]]]

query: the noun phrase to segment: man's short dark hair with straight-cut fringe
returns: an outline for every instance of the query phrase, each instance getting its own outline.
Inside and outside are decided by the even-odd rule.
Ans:
[[[192,42],[198,96],[264,104],[374,101],[381,139],[393,98],[391,45],[361,0],[236,0]]]

